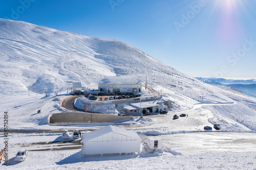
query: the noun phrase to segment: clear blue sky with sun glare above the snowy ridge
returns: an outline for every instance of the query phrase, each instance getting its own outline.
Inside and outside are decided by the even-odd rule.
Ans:
[[[2,1],[0,18],[117,39],[193,77],[256,78],[253,0]]]

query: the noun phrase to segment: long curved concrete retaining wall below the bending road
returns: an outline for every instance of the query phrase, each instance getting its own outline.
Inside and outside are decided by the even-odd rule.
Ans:
[[[124,119],[133,119],[133,116],[117,116],[111,114],[63,112],[53,113],[50,117],[50,124],[55,123],[106,123]]]

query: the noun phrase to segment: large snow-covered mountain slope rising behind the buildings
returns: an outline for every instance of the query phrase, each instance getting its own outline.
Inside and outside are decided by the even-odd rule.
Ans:
[[[256,115],[255,98],[189,77],[129,44],[6,19],[0,19],[0,29],[0,108],[19,112],[16,116],[24,115],[20,109],[33,115],[42,105],[47,108],[50,104],[42,103],[47,100],[43,98],[46,86],[48,93],[54,94],[66,91],[71,81],[97,88],[104,76],[131,75],[145,82],[145,68],[147,83],[156,90],[163,88],[180,108],[185,108],[187,100],[191,104],[244,102],[244,107],[252,108],[251,114]],[[35,104],[33,98],[38,96],[41,101]],[[23,125],[27,118],[16,122]],[[29,121],[42,125],[40,118],[31,116]],[[240,119],[236,121],[243,124]],[[250,121],[255,125],[256,118]]]

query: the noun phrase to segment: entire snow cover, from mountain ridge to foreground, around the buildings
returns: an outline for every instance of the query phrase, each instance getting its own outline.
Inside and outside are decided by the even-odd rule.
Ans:
[[[50,126],[50,113],[67,111],[61,107],[70,96],[70,82],[97,88],[103,76],[131,75],[145,81],[168,106],[166,115],[134,117],[131,125],[141,137],[148,131],[164,135],[162,156],[109,156],[80,158],[78,141],[74,150],[36,151],[55,141],[67,147],[59,133],[12,134],[9,131],[7,169],[254,169],[256,168],[256,98],[228,87],[205,84],[166,66],[123,42],[81,36],[22,21],[0,19],[0,112],[8,112],[9,130],[98,129],[96,126]],[[145,62],[146,61],[146,62]],[[145,82],[142,82],[145,83]],[[48,96],[45,96],[47,89]],[[150,93],[150,92],[146,92]],[[37,110],[41,109],[41,113]],[[117,108],[120,111],[121,106]],[[110,110],[111,112],[111,110]],[[116,110],[114,111],[116,113]],[[112,113],[112,112],[111,112]],[[174,114],[188,114],[173,120]],[[4,122],[1,114],[0,122]],[[223,129],[204,131],[221,124]],[[161,132],[168,127],[168,132]],[[213,127],[213,126],[212,126]],[[4,126],[0,127],[1,130]],[[243,133],[242,133],[243,132]],[[1,135],[0,147],[4,147]],[[54,143],[53,143],[54,144]],[[24,147],[25,146],[25,147]],[[28,148],[24,162],[14,162],[20,147]],[[31,147],[31,148],[30,148]],[[32,151],[33,150],[33,151]],[[2,168],[1,167],[1,168]]]

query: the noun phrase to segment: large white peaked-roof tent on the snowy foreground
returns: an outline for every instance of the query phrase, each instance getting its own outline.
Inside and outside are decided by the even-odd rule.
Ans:
[[[110,125],[82,135],[81,155],[139,154],[140,142],[141,138],[137,133]]]

